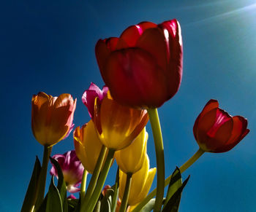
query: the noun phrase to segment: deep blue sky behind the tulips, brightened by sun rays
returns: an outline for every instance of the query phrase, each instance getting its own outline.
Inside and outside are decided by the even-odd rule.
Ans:
[[[249,133],[233,150],[206,153],[183,176],[191,178],[181,212],[254,211],[256,200],[256,4],[222,1],[5,1],[1,4],[0,211],[20,211],[35,155],[31,96],[71,93],[78,98],[75,126],[89,121],[80,100],[90,82],[102,87],[94,55],[100,38],[119,36],[148,20],[181,23],[184,77],[177,95],[159,109],[166,175],[197,151],[197,115],[215,98],[222,109],[249,120]],[[155,166],[150,126],[148,154]],[[73,149],[72,136],[53,154]],[[111,176],[115,175],[115,166]],[[155,183],[154,183],[155,186]]]

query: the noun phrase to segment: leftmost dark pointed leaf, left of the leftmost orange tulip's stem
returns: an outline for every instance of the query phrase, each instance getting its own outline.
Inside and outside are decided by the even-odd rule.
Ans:
[[[36,157],[36,161],[34,162],[34,169],[31,175],[31,179],[29,181],[29,187],[26,191],[26,196],[23,201],[23,205],[20,212],[31,211],[34,204],[37,200],[37,193],[38,193],[38,181],[39,181],[39,174],[41,171],[41,164]]]

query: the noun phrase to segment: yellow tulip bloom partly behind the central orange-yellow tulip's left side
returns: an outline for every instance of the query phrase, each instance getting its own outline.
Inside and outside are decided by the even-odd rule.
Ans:
[[[89,173],[93,173],[102,143],[99,141],[94,122],[90,120],[81,128],[76,127],[74,131],[75,152],[83,163],[83,167]]]

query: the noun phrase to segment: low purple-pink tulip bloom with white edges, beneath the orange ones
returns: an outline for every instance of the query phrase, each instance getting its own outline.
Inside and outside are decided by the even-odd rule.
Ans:
[[[70,193],[79,192],[78,184],[80,184],[83,177],[83,165],[75,154],[75,150],[64,154],[55,154],[53,159],[59,162],[67,190]],[[50,169],[50,174],[58,177],[58,171],[54,165]]]

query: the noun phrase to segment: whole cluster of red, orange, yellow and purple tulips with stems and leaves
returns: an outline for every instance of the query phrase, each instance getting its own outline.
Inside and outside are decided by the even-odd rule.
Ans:
[[[21,211],[178,211],[188,181],[182,182],[181,173],[204,152],[227,152],[236,146],[249,133],[247,120],[231,117],[219,109],[216,100],[208,101],[193,127],[198,151],[165,178],[157,108],[181,84],[183,49],[178,21],[132,25],[119,38],[100,39],[95,51],[105,86],[100,90],[91,83],[83,93],[91,117],[85,125],[74,129],[77,100],[72,95],[38,93],[32,98],[31,127],[44,154],[42,165],[38,159],[35,162]],[[157,168],[149,165],[148,120]],[[50,157],[53,146],[72,130],[75,150]],[[52,178],[45,195],[49,160]],[[110,187],[105,179],[114,160],[118,169]],[[156,173],[157,188],[148,194]],[[86,185],[88,174],[91,181]],[[79,199],[67,197],[67,191],[80,192]]]

